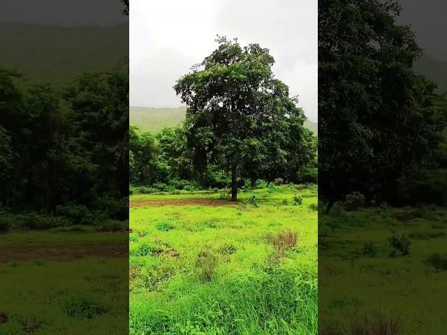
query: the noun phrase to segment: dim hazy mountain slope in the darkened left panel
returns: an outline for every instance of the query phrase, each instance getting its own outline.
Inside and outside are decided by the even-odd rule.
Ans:
[[[83,72],[110,70],[129,57],[129,24],[56,27],[0,23],[0,64],[29,82],[65,84]]]

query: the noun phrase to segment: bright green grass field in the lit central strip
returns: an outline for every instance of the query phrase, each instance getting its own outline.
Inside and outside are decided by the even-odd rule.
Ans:
[[[317,334],[316,195],[131,196],[130,334]]]

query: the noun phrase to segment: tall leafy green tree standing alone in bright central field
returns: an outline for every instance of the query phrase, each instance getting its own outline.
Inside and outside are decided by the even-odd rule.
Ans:
[[[174,88],[188,105],[184,128],[193,165],[204,171],[212,163],[230,172],[235,201],[238,177],[249,165],[259,173],[272,170],[272,154],[284,161],[288,123],[296,119],[302,126],[305,117],[288,97],[288,87],[274,79],[268,49],[241,47],[225,37],[217,43],[217,50]]]

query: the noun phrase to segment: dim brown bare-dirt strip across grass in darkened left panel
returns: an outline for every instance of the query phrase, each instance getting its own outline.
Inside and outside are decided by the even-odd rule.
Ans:
[[[76,260],[89,257],[129,257],[129,244],[18,244],[0,247],[0,263],[29,260]]]

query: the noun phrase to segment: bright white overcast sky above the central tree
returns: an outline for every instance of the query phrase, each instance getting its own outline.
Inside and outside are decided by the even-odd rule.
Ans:
[[[216,35],[268,47],[274,75],[317,119],[316,0],[132,0],[130,105],[178,107],[173,85],[217,47]]]

